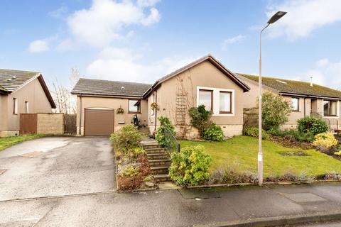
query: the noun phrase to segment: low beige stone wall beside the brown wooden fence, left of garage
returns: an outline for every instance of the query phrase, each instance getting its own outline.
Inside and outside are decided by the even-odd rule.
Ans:
[[[64,133],[63,114],[38,114],[37,133],[62,135]]]

